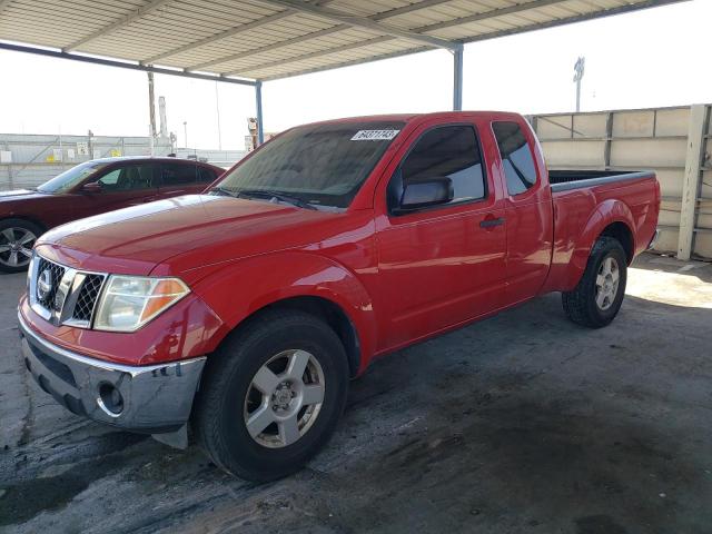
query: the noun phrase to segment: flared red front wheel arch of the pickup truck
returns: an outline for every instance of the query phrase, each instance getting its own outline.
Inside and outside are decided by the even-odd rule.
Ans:
[[[320,297],[339,306],[356,328],[362,368],[374,353],[376,320],[372,298],[345,266],[304,251],[279,251],[230,263],[191,288],[227,328],[211,339],[212,349],[255,312],[293,297]]]

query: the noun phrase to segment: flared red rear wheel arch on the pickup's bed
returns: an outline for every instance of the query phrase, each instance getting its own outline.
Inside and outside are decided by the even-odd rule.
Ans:
[[[578,239],[576,239],[576,245],[568,264],[568,283],[566,284],[568,288],[574,288],[576,284],[578,284],[578,280],[586,269],[593,245],[603,230],[614,222],[623,222],[627,226],[633,236],[633,250],[635,250],[635,233],[633,231],[635,222],[631,209],[621,200],[609,199],[601,202],[589,218],[583,233],[578,236]]]

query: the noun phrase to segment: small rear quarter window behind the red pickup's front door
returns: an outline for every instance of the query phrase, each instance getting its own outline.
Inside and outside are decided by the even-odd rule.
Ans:
[[[521,195],[536,184],[536,167],[526,137],[516,122],[493,122],[510,195]]]

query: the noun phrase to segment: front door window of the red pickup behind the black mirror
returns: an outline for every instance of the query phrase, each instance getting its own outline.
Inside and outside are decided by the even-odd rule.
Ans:
[[[437,177],[452,180],[452,202],[485,197],[482,156],[472,126],[439,127],[421,137],[400,164],[388,196],[400,198],[406,186]]]

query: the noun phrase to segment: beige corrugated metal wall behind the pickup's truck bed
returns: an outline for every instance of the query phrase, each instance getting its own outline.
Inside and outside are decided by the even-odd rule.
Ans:
[[[552,169],[654,169],[663,197],[656,248],[679,253],[681,211],[694,211],[692,253],[712,258],[712,125],[710,106],[695,126],[691,107],[530,117]],[[698,137],[702,150],[689,156]],[[693,184],[688,195],[685,172]],[[683,202],[683,196],[686,202]]]

